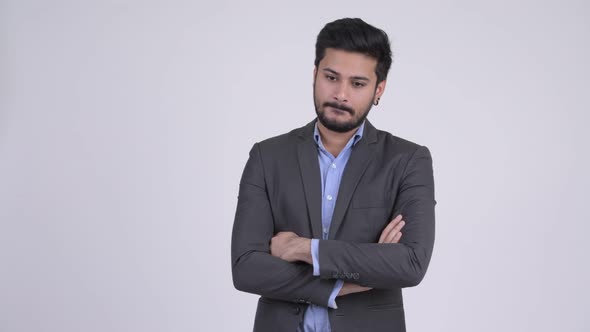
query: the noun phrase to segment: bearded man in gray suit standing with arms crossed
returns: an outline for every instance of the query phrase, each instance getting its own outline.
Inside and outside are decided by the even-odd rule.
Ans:
[[[390,66],[385,32],[327,24],[317,119],[250,151],[232,269],[238,290],[261,295],[255,331],[405,331],[401,289],[426,273],[436,201],[429,150],[366,120]]]

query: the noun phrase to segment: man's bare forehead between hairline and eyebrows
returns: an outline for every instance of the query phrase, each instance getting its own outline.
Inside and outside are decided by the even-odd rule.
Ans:
[[[343,76],[375,78],[377,60],[363,53],[327,48],[318,70],[331,71]]]

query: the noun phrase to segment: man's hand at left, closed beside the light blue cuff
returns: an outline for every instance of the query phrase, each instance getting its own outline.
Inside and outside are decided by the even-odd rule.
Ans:
[[[287,262],[302,261],[312,264],[311,239],[293,232],[279,232],[270,240],[270,254]]]

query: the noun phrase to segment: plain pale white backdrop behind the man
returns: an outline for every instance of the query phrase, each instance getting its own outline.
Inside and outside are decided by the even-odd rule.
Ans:
[[[239,178],[341,17],[392,40],[372,123],[434,158],[408,330],[588,331],[590,4],[467,0],[0,1],[0,331],[251,330]]]

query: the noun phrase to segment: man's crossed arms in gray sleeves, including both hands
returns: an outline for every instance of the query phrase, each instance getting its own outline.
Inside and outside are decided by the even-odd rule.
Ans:
[[[434,244],[432,159],[418,147],[401,174],[395,211],[403,214],[383,230],[378,243],[320,240],[320,275],[313,275],[310,239],[274,234],[260,148],[246,163],[232,234],[234,286],[265,297],[326,306],[337,279],[354,274],[339,295],[370,288],[415,286],[424,277]],[[401,239],[401,227],[404,236]]]

